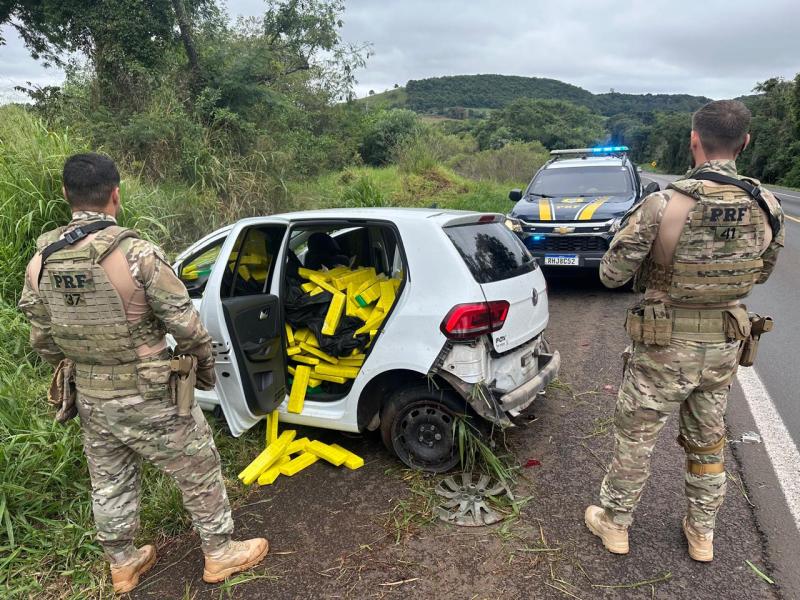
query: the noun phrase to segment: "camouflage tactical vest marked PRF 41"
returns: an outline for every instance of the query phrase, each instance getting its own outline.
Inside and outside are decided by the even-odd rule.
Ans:
[[[669,187],[697,203],[672,264],[648,258],[637,287],[664,291],[676,303],[718,304],[747,296],[761,274],[767,227],[756,200],[737,187],[693,179]]]

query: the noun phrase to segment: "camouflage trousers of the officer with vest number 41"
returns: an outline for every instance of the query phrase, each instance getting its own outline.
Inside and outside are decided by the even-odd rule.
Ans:
[[[614,415],[614,456],[600,489],[600,501],[614,522],[630,525],[647,478],[661,429],[680,407],[680,432],[697,447],[725,436],[730,380],[738,362],[739,342],[673,339],[668,346],[634,344],[625,368]],[[687,453],[699,463],[720,463],[723,450]],[[690,522],[701,532],[714,529],[725,496],[726,474],[686,472]]]

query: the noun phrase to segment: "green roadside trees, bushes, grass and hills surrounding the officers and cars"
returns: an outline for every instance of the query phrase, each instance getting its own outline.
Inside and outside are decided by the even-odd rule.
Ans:
[[[69,155],[91,149],[117,160],[122,224],[173,254],[223,224],[290,209],[506,212],[508,189],[525,185],[555,146],[613,139],[659,168],[677,170],[687,162],[681,154],[687,111],[697,99],[673,102],[682,112],[627,119],[609,112],[616,110],[611,100],[603,106],[612,108],[603,108],[575,86],[541,80],[549,95],[537,96],[523,81],[516,92],[521,99],[475,99],[487,108],[471,119],[471,113],[445,110],[469,106],[457,81],[435,102],[445,103],[439,112],[458,118],[422,118],[408,109],[433,106],[433,92],[428,104],[418,104],[421,85],[374,101],[353,99],[353,73],[370,49],[341,41],[340,0],[266,4],[263,18],[235,23],[215,0],[155,0],[133,11],[129,3],[78,0],[9,2],[0,9],[0,24],[13,18],[32,51],[67,72],[62,86],[28,89],[29,104],[0,107],[3,598],[107,591],[79,426],[53,422],[44,401],[50,369],[28,346],[27,324],[16,309],[35,239],[69,218],[61,198]],[[76,52],[85,62],[75,61]],[[508,89],[487,82],[475,90]],[[800,81],[769,80],[758,91],[748,99],[756,121],[745,170],[800,185]],[[668,104],[659,102],[654,106]],[[233,440],[219,423],[212,426],[231,498],[241,501],[247,492],[235,474],[261,446],[263,429]],[[466,433],[462,451],[465,462],[488,465],[501,477],[509,473]],[[178,491],[155,470],[145,475],[143,539],[186,531]]]

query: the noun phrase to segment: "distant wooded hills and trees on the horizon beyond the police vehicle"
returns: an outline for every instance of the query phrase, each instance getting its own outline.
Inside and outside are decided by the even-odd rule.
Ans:
[[[800,74],[755,83],[740,98],[753,113],[753,142],[739,159],[743,173],[765,183],[800,187]],[[469,133],[480,149],[515,141],[548,148],[627,145],[642,164],[683,173],[690,114],[710,99],[686,94],[592,94],[553,79],[458,75],[409,81],[361,102],[375,110],[410,108],[439,119],[449,132]]]

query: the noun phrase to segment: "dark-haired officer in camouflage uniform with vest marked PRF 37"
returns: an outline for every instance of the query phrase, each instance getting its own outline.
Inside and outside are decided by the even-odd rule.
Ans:
[[[64,165],[66,227],[42,235],[28,265],[20,308],[31,345],[48,362],[74,362],[77,405],[97,538],[114,589],[132,590],[155,562],[137,549],[142,459],[178,484],[205,555],[203,579],[221,581],[259,563],[267,540],[231,540],[233,520],[219,454],[200,408],[182,417],[172,402],[170,351],[197,359],[197,384],[214,388],[211,339],[162,250],[116,225],[119,173],[99,154]]]

